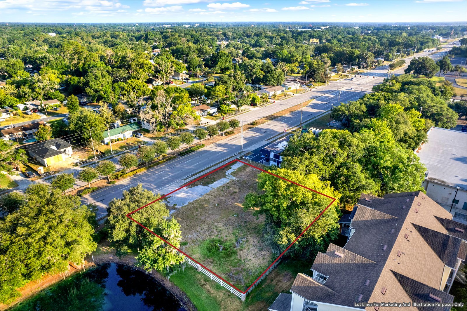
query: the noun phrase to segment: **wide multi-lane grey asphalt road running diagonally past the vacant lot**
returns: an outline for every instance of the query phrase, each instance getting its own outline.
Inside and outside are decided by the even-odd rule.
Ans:
[[[416,56],[405,59],[406,66],[413,57],[430,56],[432,58],[439,58],[446,53],[447,49],[442,49],[435,53],[418,53]],[[406,66],[392,71],[391,74],[403,73]],[[371,92],[374,85],[382,83],[382,80],[387,77],[388,66],[379,66],[375,70],[365,72],[363,78],[355,78],[354,80],[348,78],[331,82],[310,92],[304,92],[289,99],[276,101],[276,103],[269,106],[241,114],[238,116],[238,119],[246,124],[290,106],[298,105],[306,100],[314,99],[311,104],[303,107],[303,121],[311,120],[317,115],[329,111],[332,104],[337,105],[339,102],[355,100],[360,98],[364,93]],[[277,135],[283,133],[284,127],[296,127],[299,123],[300,110],[297,110],[245,131],[243,133],[244,152],[263,146],[272,141]],[[190,155],[174,159],[134,177],[129,177],[118,184],[92,192],[90,195],[82,198],[82,202],[83,204],[94,203],[98,205],[99,211],[97,217],[99,218],[106,214],[106,207],[113,198],[120,198],[122,191],[137,184],[142,184],[144,188],[154,193],[168,193],[188,182],[193,174],[211,168],[215,163],[220,163],[236,156],[240,152],[240,140],[240,134],[233,135]]]

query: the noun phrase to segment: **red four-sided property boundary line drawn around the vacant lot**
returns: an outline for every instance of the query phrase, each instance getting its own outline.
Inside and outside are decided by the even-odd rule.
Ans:
[[[260,170],[260,171],[262,171],[262,172],[264,172],[264,173],[267,173],[267,174],[269,174],[269,175],[272,175],[272,176],[274,176],[274,177],[283,179],[283,180],[285,180],[285,181],[287,181],[287,182],[289,182],[289,183],[291,183],[291,184],[295,184],[295,185],[297,185],[297,186],[300,186],[300,187],[302,187],[302,188],[305,188],[305,189],[307,189],[307,190],[310,190],[310,191],[313,191],[313,192],[315,192],[315,193],[318,193],[318,194],[320,194],[320,195],[322,195],[322,196],[325,196],[326,198],[332,199],[331,203],[329,203],[329,205],[327,205],[326,208],[325,208],[322,212],[319,213],[319,215],[311,222],[311,224],[308,225],[308,226],[305,228],[305,230],[303,230],[302,233],[300,233],[300,234],[297,236],[297,238],[296,238],[295,240],[293,240],[292,243],[290,243],[290,245],[276,258],[276,260],[275,260],[274,262],[272,262],[272,263],[269,265],[269,267],[268,267],[266,270],[264,270],[264,272],[261,274],[261,276],[258,276],[258,278],[255,280],[255,282],[253,282],[253,283],[247,288],[247,290],[245,290],[245,291],[240,290],[240,289],[238,289],[237,287],[233,286],[231,283],[229,283],[228,281],[226,281],[224,278],[220,277],[219,275],[217,275],[216,273],[214,273],[212,270],[206,268],[206,267],[205,267],[204,265],[202,265],[200,262],[198,262],[198,261],[194,260],[193,258],[191,258],[190,255],[184,253],[181,249],[179,249],[179,248],[173,246],[173,245],[170,244],[168,241],[164,240],[162,237],[160,237],[159,235],[157,235],[156,233],[152,232],[152,231],[149,230],[147,227],[143,226],[141,223],[139,223],[138,221],[136,221],[136,220],[134,220],[132,217],[130,217],[131,214],[133,214],[133,213],[135,213],[135,212],[138,212],[139,210],[145,208],[146,206],[151,205],[151,204],[153,204],[154,202],[157,202],[157,201],[159,201],[159,200],[161,200],[161,199],[163,199],[163,198],[169,196],[170,194],[172,194],[172,193],[174,193],[174,192],[176,192],[176,191],[178,191],[178,190],[180,190],[180,189],[182,189],[182,188],[184,188],[184,187],[186,187],[186,186],[188,186],[188,185],[190,185],[190,184],[193,184],[193,183],[197,182],[198,180],[200,180],[201,178],[204,178],[204,177],[206,177],[206,176],[208,176],[208,175],[214,173],[215,171],[220,170],[220,169],[222,169],[222,168],[224,168],[224,167],[226,167],[226,166],[228,166],[228,165],[230,165],[230,164],[232,164],[232,163],[234,163],[234,162],[240,162],[240,163],[246,164],[246,165],[248,165],[248,166],[250,166],[250,167],[252,167],[252,168],[255,168],[256,170]],[[311,189],[311,188],[305,187],[304,185],[297,184],[297,183],[295,183],[295,182],[293,182],[293,181],[290,181],[290,180],[288,180],[288,179],[286,179],[286,178],[284,178],[284,177],[280,177],[280,176],[278,176],[278,175],[276,175],[276,174],[273,174],[273,173],[271,173],[271,172],[268,172],[268,171],[266,171],[266,170],[262,170],[262,169],[260,169],[259,167],[256,167],[256,166],[251,165],[251,164],[246,163],[246,162],[243,162],[243,161],[241,161],[241,160],[239,160],[239,159],[235,159],[235,160],[230,161],[229,163],[226,163],[226,164],[224,164],[224,165],[218,167],[218,168],[215,169],[215,170],[210,171],[209,173],[206,173],[205,175],[203,175],[203,176],[201,176],[201,177],[196,178],[195,180],[192,180],[192,181],[189,182],[188,184],[185,184],[185,185],[181,186],[180,188],[175,189],[174,191],[170,191],[169,193],[167,193],[167,194],[163,195],[162,197],[158,198],[157,200],[154,200],[154,201],[152,201],[152,202],[150,202],[150,203],[148,203],[148,204],[146,204],[146,205],[144,205],[144,206],[142,206],[142,207],[140,207],[140,208],[134,210],[133,212],[129,212],[126,216],[127,216],[129,219],[133,220],[133,221],[134,221],[135,223],[137,223],[138,225],[142,226],[144,229],[148,230],[150,233],[154,234],[154,235],[155,235],[156,237],[158,237],[159,239],[163,240],[166,244],[168,244],[168,245],[170,245],[171,247],[175,248],[175,249],[176,249],[177,251],[179,251],[181,254],[184,254],[185,256],[187,256],[188,258],[190,258],[193,262],[196,262],[196,263],[199,264],[201,267],[203,267],[204,269],[206,269],[206,270],[208,270],[209,272],[211,272],[213,275],[219,277],[219,279],[221,279],[222,281],[226,282],[227,284],[229,284],[230,286],[232,286],[234,289],[240,291],[242,294],[246,294],[246,293],[248,292],[248,290],[249,290],[250,288],[252,288],[252,287],[255,285],[255,283],[258,282],[258,280],[261,279],[261,277],[269,270],[269,268],[271,268],[271,267],[282,257],[282,255],[285,254],[285,252],[287,252],[287,251],[289,250],[289,248],[290,248],[292,245],[294,245],[295,242],[297,242],[297,240],[306,232],[306,230],[308,230],[308,228],[310,228],[311,225],[313,225],[313,223],[314,223],[316,220],[318,220],[318,218],[321,217],[321,215],[323,215],[323,213],[329,208],[329,206],[331,206],[331,205],[334,203],[335,200],[336,200],[336,198],[333,198],[333,197],[330,197],[330,196],[328,196],[328,195],[325,195],[324,193],[321,193],[321,192],[319,192],[319,191],[316,191],[316,190],[313,190],[313,189]]]

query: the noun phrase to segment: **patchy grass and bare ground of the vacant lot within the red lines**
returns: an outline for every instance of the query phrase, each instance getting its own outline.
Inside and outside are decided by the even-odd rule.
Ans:
[[[208,175],[194,186],[203,187],[225,178],[228,169],[216,171],[216,175]],[[184,251],[244,290],[274,256],[263,240],[264,216],[257,218],[253,211],[242,207],[245,196],[256,190],[259,171],[243,165],[230,173],[234,179],[178,207],[173,216],[181,225]]]

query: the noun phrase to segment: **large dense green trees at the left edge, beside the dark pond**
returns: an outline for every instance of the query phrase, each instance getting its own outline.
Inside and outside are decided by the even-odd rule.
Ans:
[[[76,196],[45,184],[29,186],[22,205],[0,220],[1,301],[11,301],[19,295],[16,288],[44,273],[67,271],[69,262],[82,264],[96,249],[89,223],[94,217]]]

